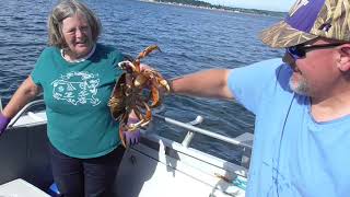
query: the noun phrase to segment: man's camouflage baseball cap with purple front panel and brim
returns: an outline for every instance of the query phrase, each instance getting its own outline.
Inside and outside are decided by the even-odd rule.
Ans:
[[[275,48],[303,44],[316,37],[350,42],[349,0],[298,0],[284,21],[260,34]]]

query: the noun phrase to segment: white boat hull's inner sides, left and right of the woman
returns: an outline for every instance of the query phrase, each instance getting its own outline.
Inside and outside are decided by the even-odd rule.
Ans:
[[[18,178],[21,179],[12,183],[25,181],[44,194],[48,193],[54,179],[46,137],[46,114],[24,113],[14,119],[15,123],[11,123],[11,128],[0,138],[0,196],[9,195],[7,183]],[[252,136],[244,138],[250,140]],[[235,142],[235,139],[231,141]],[[246,183],[245,167],[184,146],[189,143],[190,139],[178,143],[142,131],[141,142],[128,149],[122,158],[114,187],[116,196],[245,196],[244,188],[234,184],[236,178]],[[40,197],[30,194],[13,195]]]

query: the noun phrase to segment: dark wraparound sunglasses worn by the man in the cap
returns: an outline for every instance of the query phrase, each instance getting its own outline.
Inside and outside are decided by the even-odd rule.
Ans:
[[[343,43],[331,43],[324,45],[296,45],[285,48],[285,51],[293,57],[294,60],[304,58],[307,51],[340,46]]]

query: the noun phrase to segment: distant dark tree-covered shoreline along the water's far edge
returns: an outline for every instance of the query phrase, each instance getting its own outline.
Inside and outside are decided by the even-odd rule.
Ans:
[[[284,16],[283,12],[273,12],[273,11],[265,11],[265,10],[260,10],[260,12],[257,12],[258,10],[256,10],[256,9],[232,8],[232,10],[229,10],[229,9],[218,9],[218,8],[183,4],[183,3],[176,3],[176,2],[159,2],[159,1],[153,1],[153,0],[138,0],[138,1],[148,2],[148,3],[158,3],[158,4],[170,4],[170,5],[176,5],[176,7],[187,7],[187,8],[194,8],[194,9],[212,10],[212,11],[220,11],[220,12],[250,14],[250,15],[266,15],[266,16],[278,16],[278,18]]]

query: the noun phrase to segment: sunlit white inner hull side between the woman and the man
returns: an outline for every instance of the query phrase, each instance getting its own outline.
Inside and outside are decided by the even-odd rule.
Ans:
[[[218,177],[245,174],[245,169],[176,142],[160,144],[159,150],[141,143],[126,151],[116,183],[119,196],[245,196],[242,188]]]

